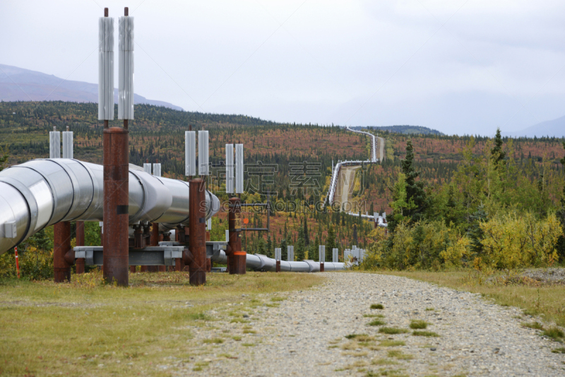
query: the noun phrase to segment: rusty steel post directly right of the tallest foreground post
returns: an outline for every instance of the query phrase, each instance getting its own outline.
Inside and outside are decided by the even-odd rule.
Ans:
[[[206,180],[189,181],[189,265],[191,285],[206,284]]]

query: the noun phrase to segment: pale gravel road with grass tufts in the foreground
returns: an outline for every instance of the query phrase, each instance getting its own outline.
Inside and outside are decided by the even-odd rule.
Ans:
[[[562,344],[523,327],[533,318],[518,308],[404,277],[324,275],[309,291],[242,297],[208,312],[215,320],[192,329],[190,341],[203,345],[158,367],[178,376],[565,376],[565,354],[552,353]],[[439,336],[412,335],[412,320]]]

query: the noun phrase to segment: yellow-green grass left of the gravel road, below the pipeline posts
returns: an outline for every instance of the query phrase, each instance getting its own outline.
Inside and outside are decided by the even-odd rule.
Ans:
[[[129,288],[103,285],[100,273],[73,275],[71,284],[1,280],[0,375],[168,376],[157,369],[163,358],[186,359],[209,347],[191,337],[210,328],[210,310],[227,315],[228,303],[250,305],[253,297],[242,294],[323,282],[320,275],[290,272],[208,274],[198,287],[188,280],[185,272],[131,274]]]

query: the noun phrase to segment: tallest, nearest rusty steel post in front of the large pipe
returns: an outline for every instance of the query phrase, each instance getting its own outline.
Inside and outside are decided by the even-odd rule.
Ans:
[[[124,127],[104,121],[104,260],[106,282],[129,285],[129,148]]]

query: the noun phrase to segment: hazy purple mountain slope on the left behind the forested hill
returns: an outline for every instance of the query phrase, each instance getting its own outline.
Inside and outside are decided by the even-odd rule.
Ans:
[[[0,100],[5,102],[62,100],[97,103],[98,84],[64,80],[42,72],[0,64]],[[148,100],[138,94],[133,95],[133,101],[136,104],[147,103],[148,105],[182,110],[179,106],[171,103]],[[114,89],[114,103],[118,103],[117,89]]]

